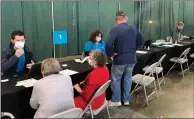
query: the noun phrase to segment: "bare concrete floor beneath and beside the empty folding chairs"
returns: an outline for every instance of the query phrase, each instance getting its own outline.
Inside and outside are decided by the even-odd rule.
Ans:
[[[130,106],[110,108],[112,118],[193,118],[194,117],[194,70],[181,79],[179,72],[165,76],[166,84],[158,92],[158,98],[153,95],[149,105],[145,106],[145,97],[140,91],[139,96],[133,95]],[[149,89],[148,89],[149,90]],[[104,110],[99,116],[107,117]]]

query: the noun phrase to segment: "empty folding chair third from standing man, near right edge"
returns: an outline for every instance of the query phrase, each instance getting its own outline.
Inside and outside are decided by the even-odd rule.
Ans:
[[[189,53],[189,51],[191,50],[191,48],[187,48],[181,55],[180,57],[173,57],[170,59],[171,62],[174,62],[174,64],[172,65],[172,67],[170,68],[170,70],[168,71],[167,75],[169,74],[169,72],[176,68],[179,64],[181,65],[181,71],[182,71],[182,76],[184,78],[184,72],[186,72],[188,70],[189,71],[189,65],[188,65],[188,59],[187,59],[187,54]],[[187,63],[187,69],[183,69],[183,64]]]

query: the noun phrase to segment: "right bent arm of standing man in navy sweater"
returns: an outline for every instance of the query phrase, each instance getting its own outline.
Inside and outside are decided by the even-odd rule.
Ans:
[[[136,49],[141,48],[144,44],[144,36],[143,34],[137,29],[137,38],[136,38]]]

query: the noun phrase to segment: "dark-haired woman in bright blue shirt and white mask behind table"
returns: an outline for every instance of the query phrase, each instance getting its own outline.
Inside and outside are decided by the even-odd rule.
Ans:
[[[102,40],[102,33],[99,30],[95,30],[90,35],[90,40],[85,45],[85,55],[89,55],[92,50],[100,50],[105,52],[105,42]]]

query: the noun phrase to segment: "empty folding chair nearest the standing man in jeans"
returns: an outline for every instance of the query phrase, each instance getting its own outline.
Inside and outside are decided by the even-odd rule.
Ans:
[[[159,63],[156,62],[156,63],[152,64],[151,66],[149,66],[143,75],[142,74],[136,74],[135,76],[132,77],[132,80],[133,80],[134,83],[136,83],[136,86],[133,89],[133,91],[131,92],[131,95],[134,92],[136,92],[137,90],[139,90],[141,87],[143,87],[144,88],[144,93],[145,93],[147,105],[148,105],[148,98],[151,95],[153,95],[155,93],[156,97],[158,97],[158,93],[157,93],[157,89],[156,89],[156,83],[155,83],[155,78],[154,78],[154,75],[153,75],[153,72],[156,70],[156,67],[158,67],[158,66],[159,66]],[[152,93],[150,95],[147,95],[146,86],[148,86],[148,85],[150,85],[152,83],[155,86],[155,90],[152,91]],[[140,86],[138,87],[138,85],[140,85]]]

